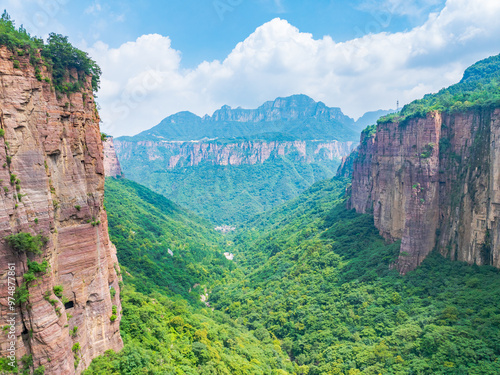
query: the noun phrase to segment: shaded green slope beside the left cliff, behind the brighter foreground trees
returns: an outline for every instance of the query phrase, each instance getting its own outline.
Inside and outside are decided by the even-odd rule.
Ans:
[[[139,292],[191,298],[194,284],[218,279],[233,266],[208,223],[142,185],[108,178],[104,202],[125,282]]]

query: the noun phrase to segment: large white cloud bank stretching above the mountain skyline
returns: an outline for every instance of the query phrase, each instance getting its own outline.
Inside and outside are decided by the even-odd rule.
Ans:
[[[480,3],[480,6],[478,5]],[[393,108],[457,82],[471,63],[500,52],[498,0],[448,0],[419,27],[344,43],[314,39],[274,19],[239,43],[224,61],[181,67],[170,39],[145,35],[91,55],[103,68],[103,130],[135,134],[180,110],[199,115],[223,104],[256,107],[303,93],[350,116]]]

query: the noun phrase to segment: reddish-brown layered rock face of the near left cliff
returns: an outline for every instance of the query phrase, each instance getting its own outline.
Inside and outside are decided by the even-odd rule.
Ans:
[[[123,345],[119,268],[103,209],[99,118],[90,81],[83,95],[55,93],[35,78],[28,56],[16,58],[18,69],[11,52],[0,48],[1,319],[12,317],[6,315],[7,264],[15,265],[19,289],[28,259],[46,260],[49,268],[36,273],[38,280],[28,283],[29,298],[15,308],[16,357],[31,354],[34,367],[44,366],[46,374],[78,374],[92,358]],[[41,74],[48,77],[46,70]],[[43,253],[14,250],[5,237],[20,232],[45,236]],[[63,287],[62,296],[54,286]],[[4,356],[10,340],[0,337]]]

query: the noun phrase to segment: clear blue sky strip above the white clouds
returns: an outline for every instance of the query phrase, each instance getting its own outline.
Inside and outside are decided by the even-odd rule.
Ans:
[[[19,2],[19,0],[16,0]],[[192,68],[204,60],[223,59],[258,26],[275,17],[286,19],[315,38],[330,35],[336,42],[370,32],[404,31],[443,8],[444,0],[413,1],[403,11],[395,1],[339,0],[20,0],[33,3],[8,9],[15,20],[38,35],[49,31],[69,35],[73,43],[103,41],[110,47],[158,33],[169,36],[182,52],[182,65]],[[412,3],[411,1],[409,3]],[[47,5],[45,5],[47,4]],[[22,11],[18,12],[21,8]],[[404,8],[410,8],[404,7]],[[36,24],[37,14],[49,22]],[[41,18],[43,19],[43,17]]]

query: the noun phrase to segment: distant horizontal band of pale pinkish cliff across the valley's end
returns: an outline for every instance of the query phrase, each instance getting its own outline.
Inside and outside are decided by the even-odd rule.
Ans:
[[[311,163],[340,159],[353,149],[353,142],[338,141],[241,141],[215,142],[127,142],[115,140],[121,160],[142,157],[145,162],[159,160],[165,167],[195,166],[203,162],[213,165],[262,164],[273,156],[294,156],[297,161]]]

